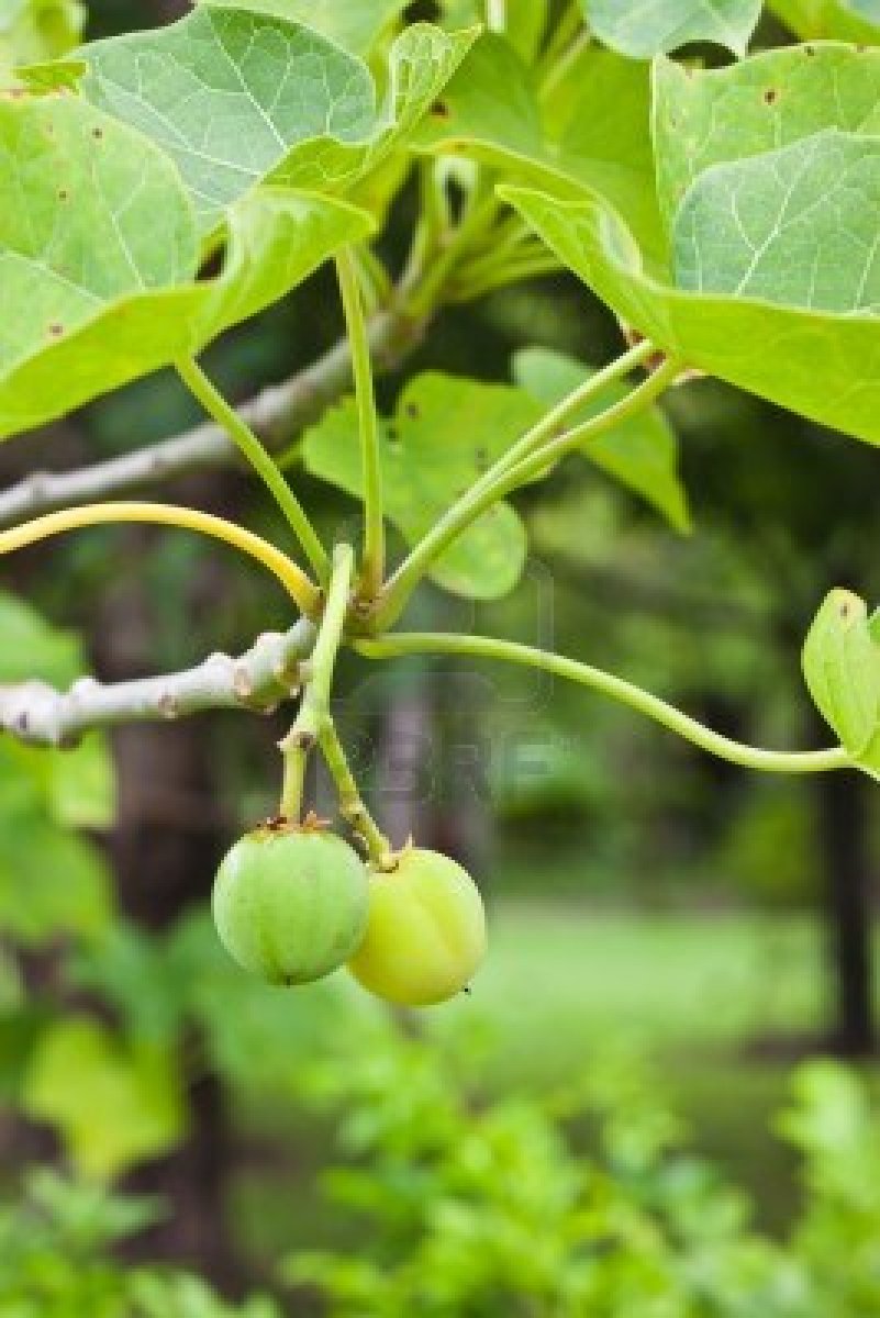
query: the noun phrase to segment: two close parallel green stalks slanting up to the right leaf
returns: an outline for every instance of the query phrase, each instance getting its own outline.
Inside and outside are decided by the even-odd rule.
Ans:
[[[478,517],[481,517],[493,503],[498,503],[518,485],[539,476],[547,467],[557,463],[572,449],[578,448],[586,440],[597,439],[619,422],[642,411],[653,402],[659,394],[680,374],[681,365],[676,361],[667,361],[663,366],[648,376],[632,393],[614,403],[598,416],[574,426],[556,439],[541,443],[559,426],[560,419],[576,407],[581,406],[591,393],[609,384],[623,370],[623,362],[635,364],[643,357],[656,352],[648,343],[640,343],[636,348],[624,353],[605,372],[593,376],[586,385],[582,385],[573,394],[555,407],[534,430],[514,444],[514,447],[501,457],[494,467],[477,481],[439,522],[428,531],[410,555],[403,560],[394,576],[385,588],[383,597],[373,613],[371,630],[386,631],[391,627],[406,608],[410,596],[428,572],[435,559],[443,554],[452,542],[461,535]]]

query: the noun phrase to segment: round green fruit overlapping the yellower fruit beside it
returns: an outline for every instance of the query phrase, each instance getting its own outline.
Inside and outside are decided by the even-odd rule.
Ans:
[[[240,966],[271,983],[308,983],[341,966],[364,937],[366,867],[332,833],[269,825],[227,854],[212,905]]]

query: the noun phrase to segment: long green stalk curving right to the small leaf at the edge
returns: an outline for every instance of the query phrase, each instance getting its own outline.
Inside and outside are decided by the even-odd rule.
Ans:
[[[602,668],[566,659],[564,655],[548,654],[532,646],[515,641],[499,641],[493,637],[458,637],[444,633],[398,633],[381,641],[360,641],[356,643],[360,654],[370,659],[390,659],[399,655],[445,654],[470,655],[480,659],[503,659],[531,668],[540,668],[557,677],[577,681],[590,687],[611,700],[635,709],[636,713],[653,718],[655,722],[677,733],[701,750],[740,764],[743,768],[756,768],[768,774],[819,774],[831,768],[851,768],[852,760],[842,746],[815,751],[772,751],[759,746],[746,746],[713,731],[705,724],[669,705],[659,696],[635,687],[623,677],[615,677]]]

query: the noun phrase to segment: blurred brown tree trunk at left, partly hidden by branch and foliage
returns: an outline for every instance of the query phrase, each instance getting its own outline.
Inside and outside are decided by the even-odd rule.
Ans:
[[[138,585],[111,593],[96,630],[104,647],[100,670],[108,680],[149,671],[149,608]],[[120,904],[138,924],[166,929],[206,900],[223,847],[204,724],[121,728],[113,749],[120,799],[109,853]],[[138,1168],[126,1182],[134,1193],[163,1198],[170,1217],[126,1252],[182,1263],[237,1292],[242,1268],[224,1217],[233,1151],[223,1087],[216,1077],[203,1075],[188,1099],[187,1141]]]

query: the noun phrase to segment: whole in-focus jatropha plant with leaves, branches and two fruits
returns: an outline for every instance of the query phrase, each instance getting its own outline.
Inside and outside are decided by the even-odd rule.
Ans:
[[[236,842],[216,880],[236,961],[290,985],[348,963],[374,994],[428,1004],[465,987],[483,956],[469,875],[412,841],[395,847],[364,803],[332,716],[343,647],[369,662],[532,666],[746,768],[880,775],[880,617],[842,589],[804,648],[838,738],[826,750],[740,745],[580,658],[398,629],[426,579],[472,598],[511,590],[526,532],[509,500],[574,455],[682,529],[657,401],[693,374],[880,442],[876,5],[779,0],[792,43],[751,55],[759,0],[445,0],[431,22],[402,0],[203,3],[84,45],[71,0],[9,8],[0,438],[165,366],[212,424],[5,492],[0,551],[100,523],[183,527],[258,560],[298,617],[187,672],[5,688],[3,725],[66,746],[125,720],[299,701],[278,813]],[[404,186],[420,204],[393,273],[377,239]],[[234,410],[199,355],[328,261],[346,340]],[[378,416],[374,369],[400,365],[440,308],[561,269],[617,314],[617,360],[526,352],[510,386],[428,373],[393,423]],[[283,543],[121,497],[237,455],[283,514]],[[360,501],[361,543],[321,543],[298,467]],[[389,525],[402,561],[389,561]],[[303,801],[315,755],[360,853]]]

